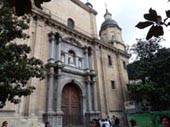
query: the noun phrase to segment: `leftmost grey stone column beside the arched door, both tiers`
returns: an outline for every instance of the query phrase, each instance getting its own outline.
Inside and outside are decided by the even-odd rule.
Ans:
[[[55,111],[54,111],[54,60],[55,60],[55,34],[50,32],[49,36],[49,59],[47,63],[48,83],[47,83],[47,108],[44,114],[45,120],[49,121],[52,127],[55,127]]]

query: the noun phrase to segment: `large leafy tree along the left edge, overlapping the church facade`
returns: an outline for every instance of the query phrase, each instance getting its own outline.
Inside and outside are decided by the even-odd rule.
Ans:
[[[27,39],[23,31],[28,29],[29,16],[16,17],[4,3],[0,8],[0,108],[6,101],[19,103],[21,96],[30,95],[35,87],[28,86],[30,78],[44,78],[43,62],[28,57],[31,49],[17,44],[16,39]]]

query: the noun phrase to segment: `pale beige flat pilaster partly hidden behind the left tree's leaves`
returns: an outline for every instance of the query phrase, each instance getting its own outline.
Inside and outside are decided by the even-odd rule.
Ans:
[[[32,54],[29,54],[33,57],[36,58],[40,58],[41,59],[41,51],[42,51],[42,45],[41,42],[44,39],[43,35],[43,31],[44,31],[44,21],[40,18],[37,17],[37,19],[33,19],[33,27],[34,30],[32,32],[34,32],[33,36],[32,36]],[[31,39],[31,38],[30,38]],[[38,115],[39,110],[38,109],[38,98],[39,98],[39,92],[40,90],[38,89],[40,84],[40,81],[38,79],[32,78],[31,79],[31,84],[32,86],[36,87],[36,90],[31,94],[31,96],[29,96],[28,100],[26,101],[26,110],[28,111],[28,115],[29,116],[34,116],[34,115]]]

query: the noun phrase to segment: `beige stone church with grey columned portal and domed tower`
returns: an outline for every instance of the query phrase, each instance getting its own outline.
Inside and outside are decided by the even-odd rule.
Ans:
[[[47,76],[31,79],[36,91],[19,105],[0,110],[11,126],[85,125],[93,118],[124,116],[129,55],[121,28],[106,9],[99,36],[97,12],[79,0],[52,0],[32,10],[31,56],[44,61]],[[100,39],[99,39],[100,38]],[[86,122],[85,122],[86,121]]]

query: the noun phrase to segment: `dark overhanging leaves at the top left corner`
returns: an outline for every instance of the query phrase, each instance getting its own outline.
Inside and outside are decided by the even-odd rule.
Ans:
[[[32,9],[32,0],[2,0],[3,2],[8,2],[10,7],[14,7],[16,15],[23,16],[25,13],[30,13]],[[43,2],[49,2],[51,0],[34,0],[36,7],[42,9],[41,4]]]

